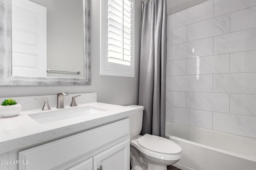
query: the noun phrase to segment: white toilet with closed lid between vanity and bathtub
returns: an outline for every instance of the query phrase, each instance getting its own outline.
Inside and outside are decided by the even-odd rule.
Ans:
[[[139,135],[142,129],[143,106],[130,117],[130,161],[132,170],[167,170],[181,158],[181,147],[163,137]]]

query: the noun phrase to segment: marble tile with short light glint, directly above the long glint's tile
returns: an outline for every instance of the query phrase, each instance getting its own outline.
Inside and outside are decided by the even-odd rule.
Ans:
[[[175,59],[213,55],[213,37],[175,45]]]

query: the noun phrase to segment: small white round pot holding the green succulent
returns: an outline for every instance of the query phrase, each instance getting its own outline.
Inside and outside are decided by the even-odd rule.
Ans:
[[[10,106],[0,106],[0,116],[2,117],[12,117],[16,116],[21,111],[21,105],[15,104]]]

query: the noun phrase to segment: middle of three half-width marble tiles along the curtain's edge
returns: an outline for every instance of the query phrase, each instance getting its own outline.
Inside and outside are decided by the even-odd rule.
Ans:
[[[167,61],[167,76],[186,75],[186,59]]]

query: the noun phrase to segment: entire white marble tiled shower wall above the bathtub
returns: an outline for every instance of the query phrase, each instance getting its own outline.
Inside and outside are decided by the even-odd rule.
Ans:
[[[168,16],[166,121],[256,138],[256,0]]]

